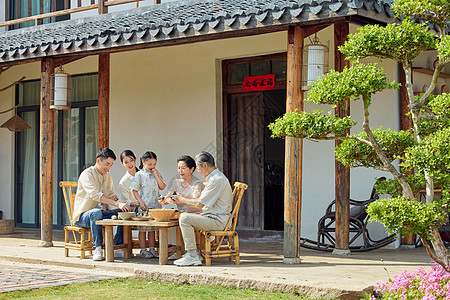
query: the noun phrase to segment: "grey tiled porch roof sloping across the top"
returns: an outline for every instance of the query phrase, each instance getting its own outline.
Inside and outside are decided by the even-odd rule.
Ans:
[[[393,20],[390,0],[190,0],[0,34],[0,63],[360,16]],[[244,33],[245,34],[245,33]]]

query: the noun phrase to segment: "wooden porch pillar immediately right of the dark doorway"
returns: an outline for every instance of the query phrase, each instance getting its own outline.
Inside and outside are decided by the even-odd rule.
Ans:
[[[286,112],[303,111],[302,65],[305,32],[288,30]],[[286,137],[284,172],[284,263],[300,263],[303,140]]]

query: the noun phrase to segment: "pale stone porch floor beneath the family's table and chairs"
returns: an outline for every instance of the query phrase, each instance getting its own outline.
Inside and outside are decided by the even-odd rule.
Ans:
[[[118,259],[114,262],[93,261],[91,255],[87,255],[86,259],[80,259],[78,251],[71,251],[69,257],[64,257],[64,232],[54,232],[54,247],[38,247],[39,240],[38,230],[18,229],[14,234],[1,235],[0,268],[3,261],[7,261],[29,264],[30,268],[22,268],[24,270],[42,266],[42,269],[51,270],[41,269],[42,272],[67,273],[73,276],[90,277],[94,272],[104,272],[104,275],[99,275],[100,277],[92,276],[91,280],[106,278],[101,276],[107,275],[135,276],[147,280],[219,284],[264,291],[295,290],[311,298],[353,300],[363,298],[364,292],[370,293],[377,281],[387,280],[386,269],[393,277],[405,269],[414,270],[419,266],[430,267],[430,258],[423,247],[382,248],[370,252],[353,253],[349,256],[335,256],[328,252],[302,248],[301,264],[286,265],[283,264],[282,243],[276,241],[248,243],[241,240],[241,265],[239,266],[230,263],[227,258],[219,258],[213,260],[212,266],[181,268],[173,265],[172,261],[169,261],[168,265],[159,265],[157,259],[139,257]],[[135,254],[138,253],[137,251],[138,249],[135,249]],[[16,267],[20,268],[20,265]],[[60,284],[67,284],[81,280],[64,277],[64,275],[60,277],[50,277],[50,275],[47,275],[50,279],[45,277],[39,279],[42,274],[36,274],[36,281],[61,279]]]

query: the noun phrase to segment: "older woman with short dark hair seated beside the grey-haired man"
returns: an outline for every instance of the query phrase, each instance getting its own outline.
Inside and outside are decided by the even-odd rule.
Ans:
[[[180,179],[175,179],[172,185],[169,187],[169,192],[167,193],[161,204],[173,204],[173,200],[170,196],[173,192],[176,192],[182,197],[188,199],[196,199],[200,197],[202,190],[204,188],[203,181],[198,179],[193,175],[195,171],[195,161],[189,155],[183,155],[177,159],[178,164],[178,175]],[[177,204],[178,210],[190,213],[201,213],[202,210],[187,205]]]

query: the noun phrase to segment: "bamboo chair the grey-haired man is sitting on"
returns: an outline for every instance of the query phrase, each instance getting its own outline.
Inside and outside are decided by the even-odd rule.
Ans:
[[[241,205],[242,196],[248,185],[241,182],[234,183],[233,190],[233,211],[224,230],[206,231],[198,230],[198,245],[200,253],[205,259],[207,266],[211,265],[211,258],[229,257],[236,265],[240,264],[239,258],[239,238],[236,232],[236,224],[238,220],[239,207]],[[225,241],[226,238],[226,241]]]

